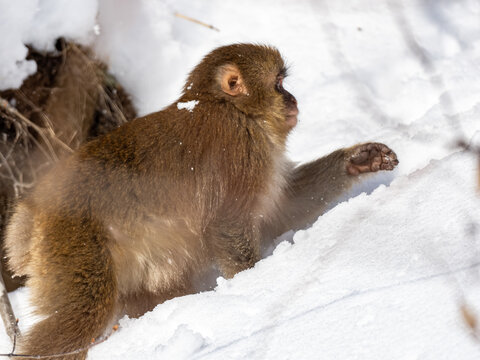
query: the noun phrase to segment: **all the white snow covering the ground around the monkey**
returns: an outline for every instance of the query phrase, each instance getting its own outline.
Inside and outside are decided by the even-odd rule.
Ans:
[[[368,140],[400,159],[255,268],[122,319],[89,359],[480,358],[460,312],[480,316],[478,163],[455,147],[480,145],[479,1],[0,0],[0,32],[0,88],[35,70],[23,43],[66,35],[95,47],[141,113],[173,101],[214,47],[269,43],[299,101],[293,159]],[[25,326],[27,291],[12,298]]]

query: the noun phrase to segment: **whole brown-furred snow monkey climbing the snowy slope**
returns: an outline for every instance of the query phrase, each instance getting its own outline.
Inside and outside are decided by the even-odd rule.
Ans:
[[[212,266],[231,278],[260,259],[262,242],[314,221],[359,174],[398,164],[380,143],[289,161],[298,109],[285,76],[273,47],[217,48],[177,101],[84,144],[37,183],[6,238],[9,266],[27,275],[42,316],[19,353],[85,349],[119,316],[191,293]]]

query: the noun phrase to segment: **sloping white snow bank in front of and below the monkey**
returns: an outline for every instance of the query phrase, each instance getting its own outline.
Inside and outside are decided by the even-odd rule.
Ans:
[[[123,319],[89,359],[473,359],[457,286],[479,259],[455,239],[480,221],[474,169],[454,154],[341,203],[214,291]]]

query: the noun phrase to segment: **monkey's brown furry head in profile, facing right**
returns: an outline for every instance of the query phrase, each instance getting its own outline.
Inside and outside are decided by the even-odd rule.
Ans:
[[[184,94],[233,105],[282,138],[297,123],[297,101],[283,88],[285,63],[276,48],[234,44],[209,53],[191,72]]]

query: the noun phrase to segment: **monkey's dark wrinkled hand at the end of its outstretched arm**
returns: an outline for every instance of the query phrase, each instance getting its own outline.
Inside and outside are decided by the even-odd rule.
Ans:
[[[398,165],[397,155],[393,150],[380,143],[355,145],[348,149],[347,154],[347,173],[350,175],[393,170]]]

